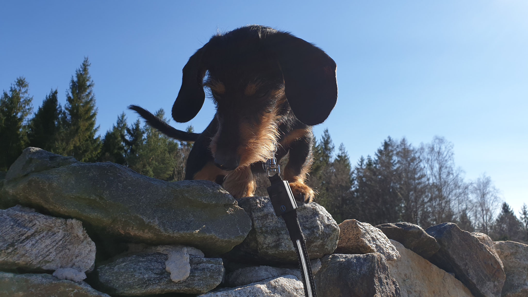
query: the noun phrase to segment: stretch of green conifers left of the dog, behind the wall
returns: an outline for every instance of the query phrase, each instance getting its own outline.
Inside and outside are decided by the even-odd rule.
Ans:
[[[149,177],[182,180],[190,144],[142,126],[139,119],[128,125],[124,113],[104,137],[97,135],[97,107],[89,68],[90,62],[84,58],[70,80],[64,107],[59,104],[58,90],[52,89],[33,116],[33,97],[25,78],[17,78],[9,90],[3,91],[0,171],[7,171],[25,147],[35,146],[82,162],[111,161]],[[156,116],[165,119],[163,109]]]

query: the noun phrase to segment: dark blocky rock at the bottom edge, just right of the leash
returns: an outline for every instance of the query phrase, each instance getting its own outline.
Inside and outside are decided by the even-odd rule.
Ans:
[[[315,276],[319,297],[396,297],[400,287],[389,273],[380,253],[365,255],[333,254],[321,259]]]

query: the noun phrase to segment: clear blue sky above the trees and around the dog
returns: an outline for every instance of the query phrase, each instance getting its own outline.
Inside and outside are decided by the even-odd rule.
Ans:
[[[353,163],[389,135],[414,145],[440,135],[466,179],[486,172],[516,210],[528,203],[524,0],[2,1],[0,11],[0,88],[25,76],[35,108],[51,88],[63,104],[88,56],[101,133],[129,104],[170,110],[182,67],[217,30],[293,32],[337,63],[337,106],[315,133],[328,128]],[[190,124],[213,114],[206,101]]]

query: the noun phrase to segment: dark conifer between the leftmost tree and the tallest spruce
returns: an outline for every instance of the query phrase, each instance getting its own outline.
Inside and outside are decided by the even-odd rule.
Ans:
[[[62,108],[58,103],[57,90],[52,89],[50,94],[46,95],[35,116],[30,120],[29,146],[55,152],[61,113]]]

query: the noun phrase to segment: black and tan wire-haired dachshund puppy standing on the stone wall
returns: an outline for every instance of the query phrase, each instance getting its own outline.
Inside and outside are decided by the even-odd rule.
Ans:
[[[176,122],[191,120],[211,90],[216,114],[201,133],[187,133],[147,110],[130,106],[169,137],[194,141],[185,179],[222,184],[233,197],[252,196],[254,173],[274,153],[289,152],[282,174],[299,201],[312,201],[305,184],[312,165],[312,126],[324,122],[337,100],[336,64],[315,45],[287,32],[251,25],[215,35],[183,68],[172,108]]]

